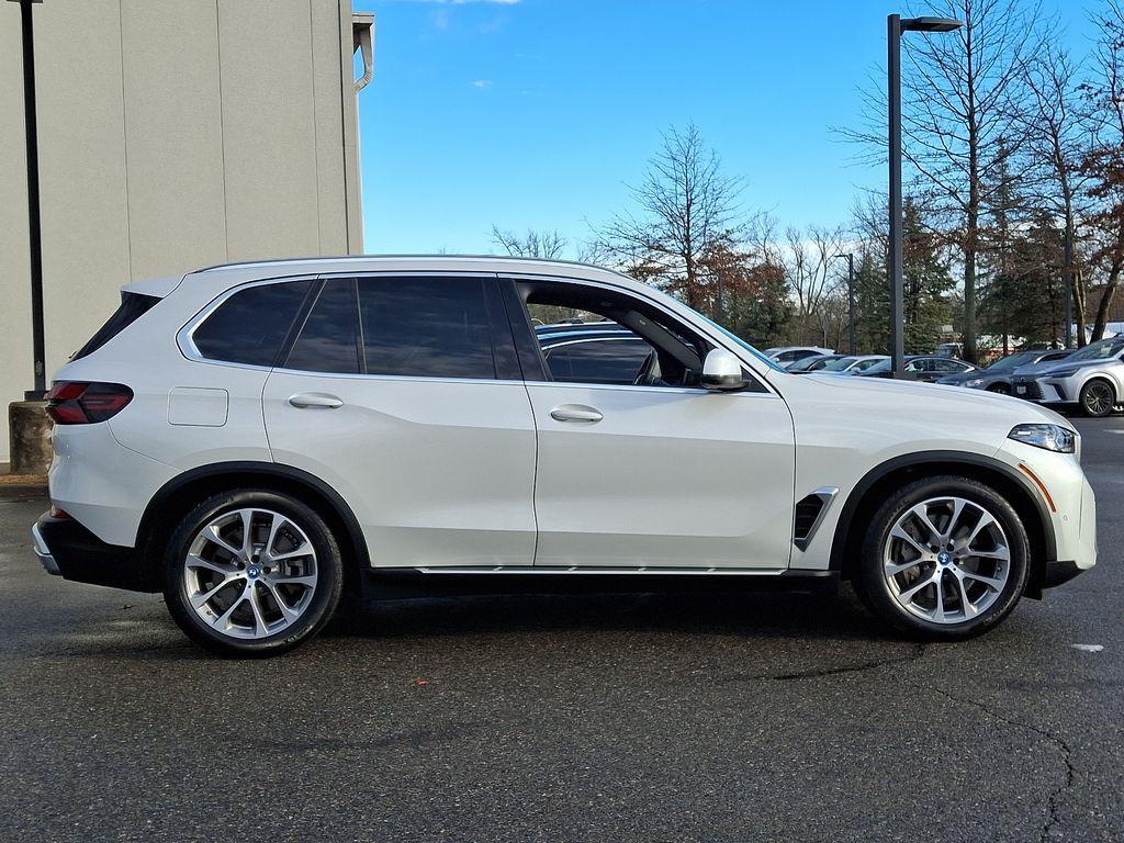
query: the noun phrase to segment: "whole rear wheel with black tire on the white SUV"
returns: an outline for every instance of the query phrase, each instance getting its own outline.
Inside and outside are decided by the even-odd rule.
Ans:
[[[319,632],[343,579],[339,547],[316,510],[284,495],[238,490],[203,501],[180,523],[164,597],[197,644],[264,656]]]

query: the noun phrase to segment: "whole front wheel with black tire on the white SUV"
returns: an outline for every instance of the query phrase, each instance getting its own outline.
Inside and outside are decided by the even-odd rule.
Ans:
[[[915,481],[871,519],[853,584],[881,620],[932,641],[978,635],[1015,608],[1030,545],[1010,504],[967,478]]]

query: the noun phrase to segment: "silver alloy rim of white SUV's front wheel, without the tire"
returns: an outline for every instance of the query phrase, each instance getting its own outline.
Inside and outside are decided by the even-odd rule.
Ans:
[[[882,575],[906,611],[959,624],[986,611],[1010,574],[1003,525],[979,504],[937,497],[909,507],[890,528]]]

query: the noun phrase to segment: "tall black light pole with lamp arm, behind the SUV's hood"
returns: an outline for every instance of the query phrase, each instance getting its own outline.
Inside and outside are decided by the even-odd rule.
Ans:
[[[901,33],[951,33],[961,24],[955,18],[886,18],[887,74],[889,85],[890,155],[890,246],[887,269],[890,275],[890,357],[894,377],[905,374],[905,333],[901,282]]]

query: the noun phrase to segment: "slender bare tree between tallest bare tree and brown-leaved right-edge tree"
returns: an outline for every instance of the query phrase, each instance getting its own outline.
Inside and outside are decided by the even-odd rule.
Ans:
[[[1086,217],[1087,175],[1081,165],[1089,152],[1089,132],[1081,110],[1079,72],[1067,51],[1042,44],[1023,63],[1027,98],[1025,107],[1015,109],[1013,117],[1030,165],[1023,199],[1061,223],[1061,273],[1073,302],[1077,342],[1085,345],[1086,277],[1077,252]]]

